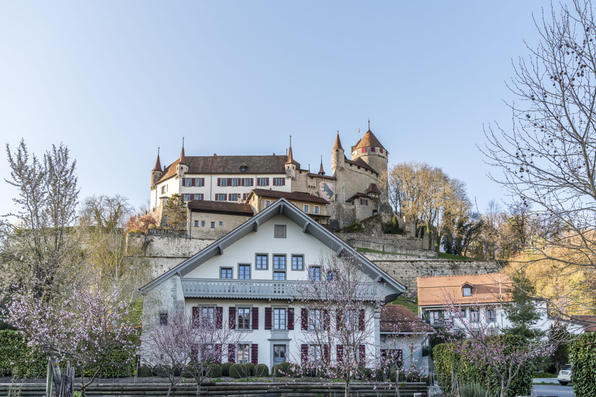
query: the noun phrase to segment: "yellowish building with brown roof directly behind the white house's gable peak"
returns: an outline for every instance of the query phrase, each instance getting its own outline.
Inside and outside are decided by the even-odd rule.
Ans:
[[[327,200],[309,193],[280,192],[279,190],[253,189],[247,197],[247,204],[254,212],[265,210],[272,203],[280,198],[285,198],[291,204],[296,205],[305,214],[308,214],[316,222],[327,224]]]

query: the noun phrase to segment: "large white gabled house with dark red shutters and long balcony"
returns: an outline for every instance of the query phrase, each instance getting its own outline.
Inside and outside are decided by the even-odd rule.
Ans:
[[[308,345],[299,341],[300,333],[309,332],[309,316],[302,315],[293,301],[292,286],[308,279],[310,268],[320,265],[321,257],[349,252],[354,251],[347,243],[280,198],[142,287],[143,314],[157,322],[181,308],[210,318],[215,313],[243,338],[237,345],[228,346],[226,360],[269,367],[286,357],[300,360],[305,346],[308,350]],[[358,252],[354,255],[371,286],[382,289],[385,302],[405,291],[373,262]],[[372,307],[363,309],[371,315],[378,313]],[[371,345],[378,346],[380,315],[374,318],[374,329],[368,331],[374,337]]]

